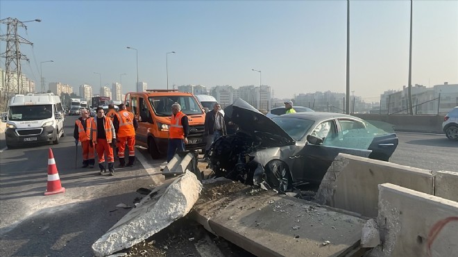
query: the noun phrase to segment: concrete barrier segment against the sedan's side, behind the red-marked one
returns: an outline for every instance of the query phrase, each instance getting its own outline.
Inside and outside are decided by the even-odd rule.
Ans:
[[[334,208],[377,217],[377,186],[382,183],[434,194],[434,177],[426,169],[339,154],[326,172],[316,199]]]

